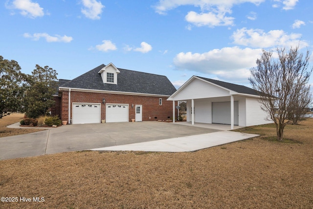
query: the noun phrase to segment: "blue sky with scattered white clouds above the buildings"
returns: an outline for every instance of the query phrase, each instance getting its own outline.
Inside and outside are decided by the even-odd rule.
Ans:
[[[250,87],[262,49],[312,52],[312,11],[312,0],[4,0],[0,55],[59,79],[113,63],[177,89],[193,75]]]

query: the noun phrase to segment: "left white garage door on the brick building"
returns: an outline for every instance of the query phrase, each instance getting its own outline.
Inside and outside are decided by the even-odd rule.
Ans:
[[[72,123],[100,123],[101,104],[99,103],[73,103]]]

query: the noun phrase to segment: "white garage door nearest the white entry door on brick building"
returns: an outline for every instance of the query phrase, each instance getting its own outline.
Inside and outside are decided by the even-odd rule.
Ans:
[[[106,104],[106,122],[128,122],[128,104]]]

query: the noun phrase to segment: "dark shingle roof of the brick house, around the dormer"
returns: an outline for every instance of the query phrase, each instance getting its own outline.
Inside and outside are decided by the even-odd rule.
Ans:
[[[117,84],[103,83],[98,72],[104,67],[105,65],[102,64],[60,87],[160,95],[172,95],[176,92],[176,88],[164,75],[119,68]]]

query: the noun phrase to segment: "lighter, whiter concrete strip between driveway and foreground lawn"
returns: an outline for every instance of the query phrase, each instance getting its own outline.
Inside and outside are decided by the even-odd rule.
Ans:
[[[151,151],[151,152],[191,152],[208,147],[218,146],[238,140],[257,137],[256,134],[246,134],[232,131],[214,132],[174,139],[162,139],[120,146],[103,147],[91,150],[107,151]]]

